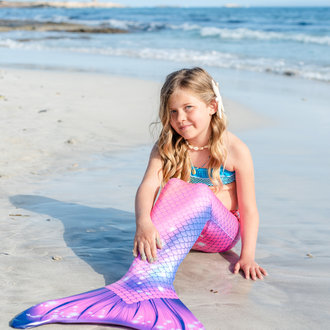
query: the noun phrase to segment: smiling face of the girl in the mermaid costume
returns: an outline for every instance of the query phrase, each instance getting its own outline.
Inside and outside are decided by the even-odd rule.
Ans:
[[[188,89],[177,89],[168,103],[173,129],[194,146],[208,143],[211,117],[217,111],[216,102],[207,105]]]

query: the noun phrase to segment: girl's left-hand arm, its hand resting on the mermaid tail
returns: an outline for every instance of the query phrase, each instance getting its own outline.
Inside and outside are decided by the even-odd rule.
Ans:
[[[157,146],[154,145],[148,167],[135,197],[136,233],[133,254],[142,260],[153,262],[157,258],[157,248],[161,248],[159,233],[153,225],[150,212],[159,190],[162,175],[162,161]]]

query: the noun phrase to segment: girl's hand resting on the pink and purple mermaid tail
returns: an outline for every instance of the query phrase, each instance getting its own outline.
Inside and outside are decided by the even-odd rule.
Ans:
[[[162,248],[159,233],[154,224],[149,221],[139,222],[135,232],[133,255],[141,256],[141,260],[150,263],[157,260],[157,248]]]

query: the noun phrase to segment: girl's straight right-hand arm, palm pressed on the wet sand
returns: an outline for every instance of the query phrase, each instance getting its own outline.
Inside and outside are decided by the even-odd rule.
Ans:
[[[259,227],[259,213],[255,198],[253,161],[248,147],[236,138],[233,150],[235,159],[236,189],[241,228],[241,256],[234,272],[244,271],[245,278],[256,280],[267,275],[254,260]],[[236,140],[235,139],[235,140]]]

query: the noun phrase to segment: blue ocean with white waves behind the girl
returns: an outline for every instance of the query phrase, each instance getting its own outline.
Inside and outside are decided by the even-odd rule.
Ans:
[[[330,82],[330,7],[2,8],[3,19],[82,23],[127,33],[1,32],[2,66],[138,76],[149,70],[146,76],[155,78],[157,68],[168,64]]]

